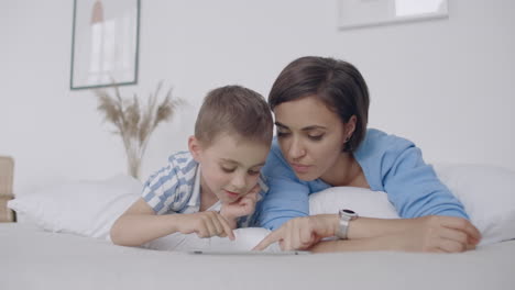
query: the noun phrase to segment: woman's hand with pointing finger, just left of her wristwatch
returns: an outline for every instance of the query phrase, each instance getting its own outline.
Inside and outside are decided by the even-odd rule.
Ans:
[[[337,226],[337,214],[296,217],[269,234],[253,249],[263,250],[275,242],[283,250],[307,249],[324,237],[333,236]]]

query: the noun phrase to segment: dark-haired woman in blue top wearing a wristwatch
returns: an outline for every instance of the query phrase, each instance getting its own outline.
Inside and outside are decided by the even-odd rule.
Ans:
[[[366,129],[369,92],[349,63],[302,57],[275,80],[269,96],[277,136],[263,174],[270,191],[258,209],[275,230],[255,249],[463,252],[479,231],[463,205],[409,141]],[[358,217],[352,209],[309,214],[309,194],[329,187],[387,193],[401,220]],[[321,241],[339,236],[340,239]]]

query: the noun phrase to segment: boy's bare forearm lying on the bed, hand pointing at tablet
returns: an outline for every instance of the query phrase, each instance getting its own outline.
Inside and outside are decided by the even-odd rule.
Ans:
[[[114,222],[110,234],[117,245],[141,246],[176,232],[197,233],[199,237],[218,235],[234,238],[229,223],[217,212],[156,215],[143,198]]]

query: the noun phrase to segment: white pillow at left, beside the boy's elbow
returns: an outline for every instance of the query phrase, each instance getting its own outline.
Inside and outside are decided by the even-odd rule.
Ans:
[[[140,181],[119,175],[28,192],[8,207],[46,231],[109,241],[112,224],[140,197],[141,189]]]

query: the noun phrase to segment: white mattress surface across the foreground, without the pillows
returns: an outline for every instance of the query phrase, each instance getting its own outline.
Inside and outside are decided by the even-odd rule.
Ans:
[[[463,254],[208,256],[0,224],[0,289],[515,289],[515,241]]]

